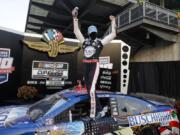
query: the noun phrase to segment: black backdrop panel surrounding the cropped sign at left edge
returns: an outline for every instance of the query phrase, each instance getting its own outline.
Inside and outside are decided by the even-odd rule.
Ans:
[[[0,30],[0,48],[11,49],[10,57],[14,58],[15,71],[9,74],[9,80],[0,84],[0,99],[15,97],[21,79],[22,46],[20,40],[23,35]]]

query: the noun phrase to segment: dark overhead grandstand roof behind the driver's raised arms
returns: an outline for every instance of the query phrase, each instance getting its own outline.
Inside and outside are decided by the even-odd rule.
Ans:
[[[89,25],[98,27],[102,36],[109,25],[109,15],[116,15],[129,3],[123,0],[117,5],[108,0],[31,0],[26,24],[26,32],[41,34],[47,28],[60,30],[66,37],[74,37],[71,11],[79,7],[81,31],[86,35]]]

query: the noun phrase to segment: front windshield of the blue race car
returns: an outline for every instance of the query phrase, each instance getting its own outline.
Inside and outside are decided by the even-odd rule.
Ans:
[[[28,113],[31,117],[33,117],[33,120],[36,120],[40,116],[43,116],[44,114],[53,111],[66,101],[67,99],[59,93],[53,94],[31,105],[29,107]]]

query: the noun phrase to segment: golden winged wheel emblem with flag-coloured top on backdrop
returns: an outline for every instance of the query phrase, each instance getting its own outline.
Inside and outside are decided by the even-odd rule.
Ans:
[[[47,52],[49,57],[56,57],[59,53],[75,52],[79,49],[79,46],[65,45],[62,33],[55,29],[45,30],[42,40],[39,42],[23,40],[23,43],[34,50]]]

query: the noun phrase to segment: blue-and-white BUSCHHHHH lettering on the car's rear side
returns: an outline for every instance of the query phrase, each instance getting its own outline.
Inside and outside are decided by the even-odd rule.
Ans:
[[[171,112],[147,113],[128,117],[130,127],[152,123],[166,123],[171,120],[173,120]]]

